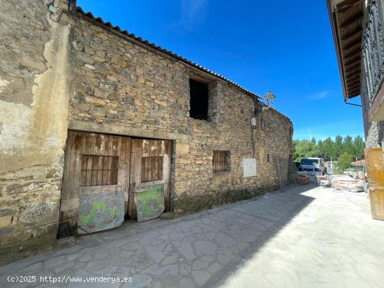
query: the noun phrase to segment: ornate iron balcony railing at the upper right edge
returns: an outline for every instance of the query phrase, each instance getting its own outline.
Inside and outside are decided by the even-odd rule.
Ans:
[[[374,103],[384,76],[383,8],[384,0],[371,1],[363,36],[362,53],[369,107]]]

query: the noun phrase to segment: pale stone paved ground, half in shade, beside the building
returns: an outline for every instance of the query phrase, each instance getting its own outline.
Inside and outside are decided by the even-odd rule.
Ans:
[[[362,194],[291,186],[175,220],[126,222],[0,267],[0,287],[383,287],[384,222]],[[11,285],[8,275],[36,275]],[[42,283],[40,275],[132,277]]]

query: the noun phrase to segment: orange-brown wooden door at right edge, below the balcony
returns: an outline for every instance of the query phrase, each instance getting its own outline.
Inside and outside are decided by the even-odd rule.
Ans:
[[[384,157],[383,150],[365,149],[367,164],[369,199],[371,201],[372,218],[384,220]]]

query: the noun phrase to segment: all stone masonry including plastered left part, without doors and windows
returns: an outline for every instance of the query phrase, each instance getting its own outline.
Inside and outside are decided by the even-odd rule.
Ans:
[[[54,245],[68,129],[172,140],[175,214],[276,188],[288,117],[265,109],[252,130],[253,93],[70,4],[0,0],[0,262]],[[190,78],[209,83],[207,121],[189,116]],[[230,151],[230,172],[213,172],[214,150]]]

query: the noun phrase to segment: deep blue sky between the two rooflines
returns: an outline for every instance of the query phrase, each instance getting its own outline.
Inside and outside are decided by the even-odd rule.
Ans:
[[[255,93],[272,90],[274,107],[293,121],[295,139],[364,135],[361,108],[344,104],[325,0],[77,5]]]

